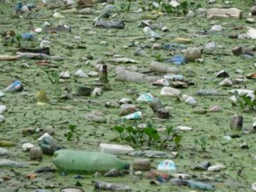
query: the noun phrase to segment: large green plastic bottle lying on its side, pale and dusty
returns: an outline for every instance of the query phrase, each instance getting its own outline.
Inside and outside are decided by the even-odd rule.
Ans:
[[[53,164],[63,171],[95,172],[110,169],[129,169],[129,164],[112,154],[89,151],[58,150],[54,152]]]

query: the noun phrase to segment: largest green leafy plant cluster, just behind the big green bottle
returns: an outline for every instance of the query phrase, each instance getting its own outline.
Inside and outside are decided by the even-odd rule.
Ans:
[[[180,146],[182,136],[173,129],[173,127],[168,127],[166,129],[165,138],[161,137],[159,132],[154,128],[154,124],[148,122],[145,128],[139,128],[134,126],[114,126],[114,131],[119,133],[119,141],[126,141],[131,145],[135,146],[155,146],[159,149],[166,148],[166,143],[172,137],[175,148],[178,149]]]

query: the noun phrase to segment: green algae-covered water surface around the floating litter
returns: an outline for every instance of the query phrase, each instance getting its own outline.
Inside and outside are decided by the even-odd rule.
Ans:
[[[164,1],[163,1],[164,2]],[[256,90],[255,80],[247,79],[246,75],[255,73],[255,57],[243,55],[235,56],[232,48],[235,46],[255,46],[255,40],[250,38],[230,38],[230,34],[247,33],[248,27],[256,28],[255,23],[246,23],[249,17],[253,1],[228,2],[217,1],[208,4],[208,1],[187,1],[186,9],[194,11],[195,16],[183,15],[182,9],[173,9],[166,13],[164,9],[151,5],[151,1],[131,1],[130,10],[126,8],[129,1],[116,1],[110,18],[102,18],[104,21],[124,21],[124,28],[97,28],[93,26],[94,19],[102,13],[106,4],[95,2],[92,5],[92,13],[79,12],[63,6],[61,1],[50,1],[43,5],[41,1],[23,1],[23,5],[33,3],[35,7],[26,13],[16,13],[14,6],[16,1],[4,1],[0,3],[0,31],[3,34],[0,42],[0,55],[15,55],[19,48],[40,48],[43,40],[50,41],[50,55],[60,56],[63,60],[53,58],[18,58],[15,60],[1,60],[0,62],[0,90],[10,85],[13,80],[23,83],[23,90],[19,92],[4,92],[0,97],[0,105],[6,105],[7,111],[3,113],[5,122],[0,123],[0,142],[13,142],[14,146],[3,146],[8,149],[7,156],[2,159],[21,161],[28,163],[25,168],[1,167],[0,191],[34,191],[36,189],[48,189],[60,191],[65,186],[75,186],[80,183],[80,188],[85,191],[93,191],[93,181],[109,181],[122,183],[132,188],[132,191],[193,191],[199,189],[187,186],[176,186],[169,181],[160,186],[150,184],[148,172],[142,175],[134,175],[132,166],[130,173],[119,177],[106,177],[104,174],[65,173],[63,171],[35,174],[36,169],[50,166],[53,156],[43,155],[41,161],[32,161],[28,151],[22,150],[22,144],[29,142],[38,146],[38,137],[43,129],[51,127],[54,130],[54,138],[60,146],[66,149],[84,149],[97,151],[100,143],[129,144],[135,150],[142,149],[159,150],[156,144],[148,146],[134,145],[132,142],[119,141],[119,134],[114,131],[115,125],[123,124],[119,116],[119,107],[105,107],[109,101],[119,102],[122,98],[129,98],[137,108],[142,111],[143,118],[137,120],[137,124],[151,122],[158,129],[161,138],[165,137],[166,127],[187,126],[191,131],[180,131],[180,146],[177,148],[171,139],[166,141],[166,146],[161,149],[166,153],[176,156],[171,159],[176,164],[176,172],[189,174],[196,181],[215,186],[215,191],[252,191],[252,183],[256,182],[256,146],[255,133],[245,132],[251,129],[256,121],[255,108],[242,110],[239,105],[234,105],[230,100],[229,90],[247,89]],[[242,18],[213,19],[202,16],[196,10],[200,7],[209,9],[212,7],[235,7],[242,11]],[[139,8],[142,11],[137,11]],[[55,18],[53,13],[58,12],[64,18]],[[179,13],[179,14],[178,14]],[[250,16],[255,18],[255,16]],[[151,19],[152,27],[161,38],[152,41],[143,32],[142,20]],[[43,26],[45,22],[50,26]],[[57,26],[66,25],[69,28],[60,30]],[[166,26],[169,31],[161,31],[157,25]],[[220,31],[210,30],[213,26],[220,25]],[[31,33],[35,28],[42,28],[41,33],[33,32],[33,41],[21,39],[18,45],[17,38],[14,42],[6,37],[6,31],[14,31],[16,36],[23,33]],[[46,30],[48,28],[48,30]],[[52,29],[50,29],[52,28]],[[188,38],[189,43],[178,42],[176,38]],[[165,63],[164,60],[175,55],[184,55],[186,47],[204,47],[207,43],[214,42],[214,48],[203,50],[203,62],[189,62],[183,65]],[[152,48],[159,43],[159,49]],[[163,45],[177,43],[183,48],[166,50]],[[182,44],[182,45],[181,45]],[[157,45],[155,45],[157,46]],[[144,55],[134,55],[137,48],[142,48]],[[252,51],[253,52],[253,51]],[[137,63],[114,63],[113,58],[129,58],[137,60]],[[89,74],[95,69],[95,63],[105,63],[108,68],[108,85],[99,81],[100,76],[90,75],[85,78],[75,77],[79,69]],[[187,105],[177,97],[161,95],[163,86],[151,83],[136,83],[116,80],[118,66],[127,70],[135,68],[137,72],[146,75],[163,78],[166,73],[156,73],[149,67],[152,61],[159,60],[169,66],[175,66],[186,78],[188,87],[180,88],[182,95],[195,98],[196,106]],[[24,64],[25,63],[25,64]],[[133,65],[133,67],[132,67]],[[135,66],[135,67],[134,67]],[[240,70],[238,70],[240,69]],[[230,87],[221,86],[219,83],[224,78],[216,78],[216,74],[225,70],[229,78],[233,80]],[[63,71],[70,73],[69,78],[59,78]],[[235,83],[236,82],[236,83]],[[102,95],[94,97],[78,96],[79,85],[86,85],[102,89]],[[171,85],[170,85],[171,86]],[[134,94],[131,91],[136,90]],[[198,95],[198,90],[218,90],[220,95]],[[46,104],[38,103],[36,93],[44,90],[48,97]],[[154,97],[159,97],[162,105],[169,111],[169,119],[159,119],[151,110],[147,102],[138,102],[139,95],[150,92]],[[65,97],[63,97],[63,95]],[[68,96],[67,96],[68,95]],[[64,98],[64,99],[63,99]],[[218,112],[207,112],[209,108],[218,105]],[[98,110],[105,115],[106,122],[97,123],[85,118],[85,114]],[[235,114],[243,116],[243,130],[230,129],[230,117]],[[70,124],[75,125],[75,132],[68,138]],[[134,124],[127,120],[124,124]],[[36,130],[35,132],[26,130]],[[246,134],[247,133],[247,134]],[[245,144],[244,144],[245,143]],[[246,145],[241,147],[241,144]],[[244,149],[245,148],[245,149]],[[119,155],[119,159],[132,164],[137,157]],[[156,170],[159,162],[164,159],[152,158],[151,171]],[[193,167],[203,161],[210,164],[222,164],[225,166],[220,171],[198,171]],[[33,177],[29,177],[33,175]]]

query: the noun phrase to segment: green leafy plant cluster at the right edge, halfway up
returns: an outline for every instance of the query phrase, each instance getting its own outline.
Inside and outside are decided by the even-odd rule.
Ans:
[[[254,92],[254,95],[256,96],[256,90]],[[253,111],[256,110],[256,99],[252,99],[249,95],[242,95],[239,96],[238,92],[235,92],[235,97],[238,100],[238,105],[241,110],[245,111]]]

